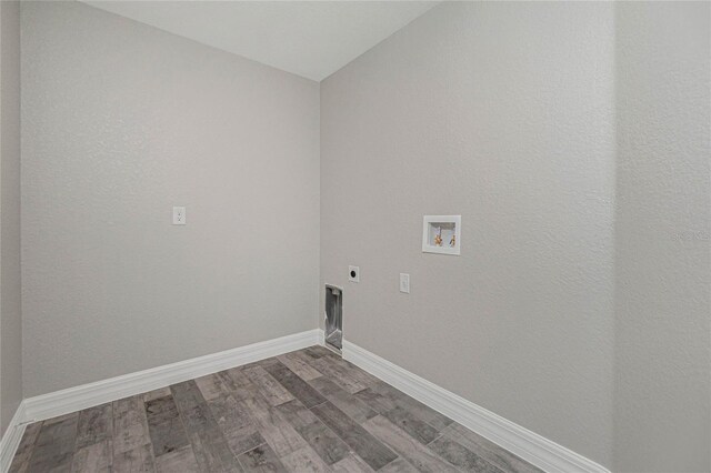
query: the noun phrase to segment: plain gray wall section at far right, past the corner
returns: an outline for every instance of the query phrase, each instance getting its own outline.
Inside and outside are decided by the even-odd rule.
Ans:
[[[711,471],[711,3],[617,7],[615,471]]]

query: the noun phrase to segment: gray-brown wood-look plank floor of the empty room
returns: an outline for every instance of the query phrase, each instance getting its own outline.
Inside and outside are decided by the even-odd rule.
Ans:
[[[37,422],[10,472],[540,472],[322,346]]]

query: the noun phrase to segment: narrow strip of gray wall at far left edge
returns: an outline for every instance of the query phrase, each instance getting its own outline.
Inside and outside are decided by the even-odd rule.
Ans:
[[[0,2],[0,435],[22,400],[20,4]]]

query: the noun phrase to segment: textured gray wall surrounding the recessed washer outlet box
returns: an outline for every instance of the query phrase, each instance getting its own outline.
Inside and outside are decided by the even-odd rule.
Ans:
[[[321,88],[346,339],[608,466],[613,13],[444,3]],[[422,215],[450,213],[462,255],[422,253]]]

